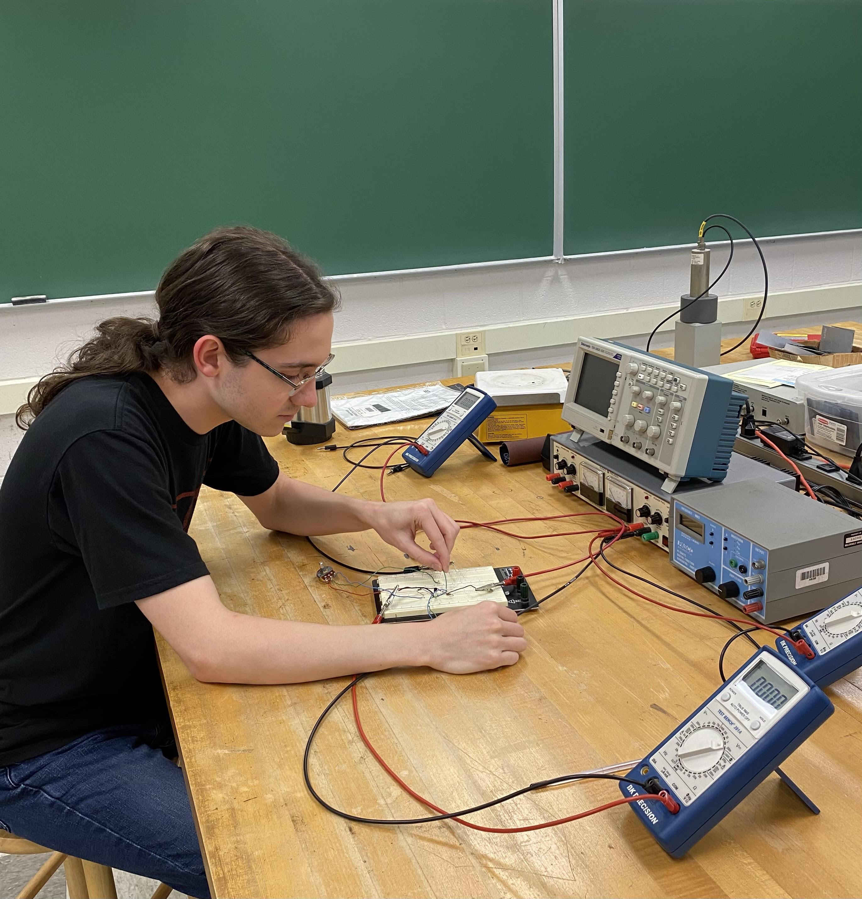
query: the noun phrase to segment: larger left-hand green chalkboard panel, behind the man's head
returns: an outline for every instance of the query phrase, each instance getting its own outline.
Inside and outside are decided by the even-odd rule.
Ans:
[[[550,0],[4,0],[0,301],[246,222],[330,274],[552,252]]]

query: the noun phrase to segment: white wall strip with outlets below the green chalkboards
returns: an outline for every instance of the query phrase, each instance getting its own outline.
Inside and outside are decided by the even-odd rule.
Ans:
[[[764,239],[761,246],[770,296],[775,294],[768,318],[806,312],[812,313],[806,322],[822,323],[862,315],[848,308],[860,305],[862,288],[818,292],[862,282],[862,232]],[[713,276],[721,271],[727,252],[727,245],[714,249]],[[488,329],[493,369],[565,359],[577,336],[569,333],[573,318],[598,316],[597,336],[610,330],[615,336],[644,334],[687,293],[688,249],[334,280],[343,298],[336,321],[337,360],[330,369],[338,392],[450,376],[453,333],[459,330]],[[740,298],[762,289],[763,272],[753,245],[737,244],[732,265],[715,292],[720,298]],[[739,322],[740,312],[741,303],[725,302],[720,317],[725,323]],[[0,307],[0,387],[4,381],[35,378],[51,369],[103,318],[154,314],[151,293]],[[588,333],[589,323],[575,326]],[[669,323],[654,346],[669,343],[672,326]],[[726,327],[727,334],[745,330],[742,324]],[[8,402],[3,411],[9,411]],[[11,416],[0,415],[0,475],[18,439]]]

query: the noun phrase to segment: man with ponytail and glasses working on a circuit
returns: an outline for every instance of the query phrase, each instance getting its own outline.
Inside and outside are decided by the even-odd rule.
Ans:
[[[156,301],[155,321],[104,321],[19,410],[27,432],[0,487],[0,828],[205,897],[152,628],[198,680],[256,684],[478,672],[516,663],[525,640],[493,603],[398,628],[225,608],[187,533],[202,484],[264,528],[373,529],[443,570],[458,526],[431,500],[292,480],[267,452],[261,435],[316,403],[338,303],[280,237],[202,237]]]

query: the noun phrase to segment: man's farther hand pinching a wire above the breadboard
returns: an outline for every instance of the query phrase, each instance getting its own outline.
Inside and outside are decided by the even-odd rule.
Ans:
[[[435,571],[448,571],[452,547],[461,530],[435,505],[434,500],[416,503],[373,503],[368,523],[393,547],[398,547],[420,565]],[[429,553],[416,542],[417,531],[423,530],[434,552]]]

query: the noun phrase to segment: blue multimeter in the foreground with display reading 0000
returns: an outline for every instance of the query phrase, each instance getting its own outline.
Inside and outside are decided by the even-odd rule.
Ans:
[[[775,650],[764,647],[724,681],[621,783],[624,796],[668,790],[672,814],[658,802],[631,804],[660,847],[685,855],[725,814],[776,770],[835,711],[829,697]]]

